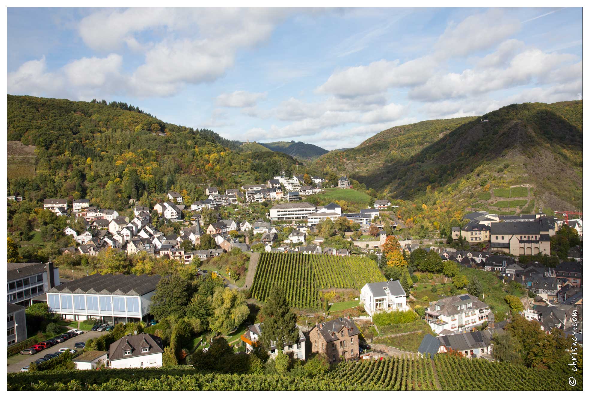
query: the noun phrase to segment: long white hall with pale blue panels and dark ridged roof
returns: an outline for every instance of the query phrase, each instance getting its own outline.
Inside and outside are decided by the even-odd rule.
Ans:
[[[70,320],[148,321],[159,275],[94,274],[47,292],[49,310]]]

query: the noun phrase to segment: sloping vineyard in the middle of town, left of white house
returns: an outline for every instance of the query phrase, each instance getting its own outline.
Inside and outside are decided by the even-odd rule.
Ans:
[[[385,281],[375,261],[366,257],[263,253],[258,259],[251,294],[265,301],[274,284],[283,287],[297,308],[319,307],[319,290],[360,289],[367,282]]]

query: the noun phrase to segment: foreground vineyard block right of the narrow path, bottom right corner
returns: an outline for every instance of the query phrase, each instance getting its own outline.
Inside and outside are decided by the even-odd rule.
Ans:
[[[468,360],[450,355],[436,355],[434,363],[442,390],[571,390],[568,374],[535,370],[510,363]],[[510,377],[503,377],[510,375]],[[582,383],[573,388],[581,389]]]

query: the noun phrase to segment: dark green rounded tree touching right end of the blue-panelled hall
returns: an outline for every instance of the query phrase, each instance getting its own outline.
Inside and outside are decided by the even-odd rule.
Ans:
[[[191,282],[179,275],[163,277],[156,285],[150,312],[157,321],[171,315],[183,318],[193,292]]]

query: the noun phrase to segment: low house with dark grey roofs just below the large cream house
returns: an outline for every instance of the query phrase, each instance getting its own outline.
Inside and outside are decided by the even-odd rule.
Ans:
[[[492,347],[491,331],[486,329],[483,331],[440,335],[438,337],[427,334],[422,338],[418,352],[432,358],[434,354],[453,350],[466,357],[484,357],[490,360]]]

